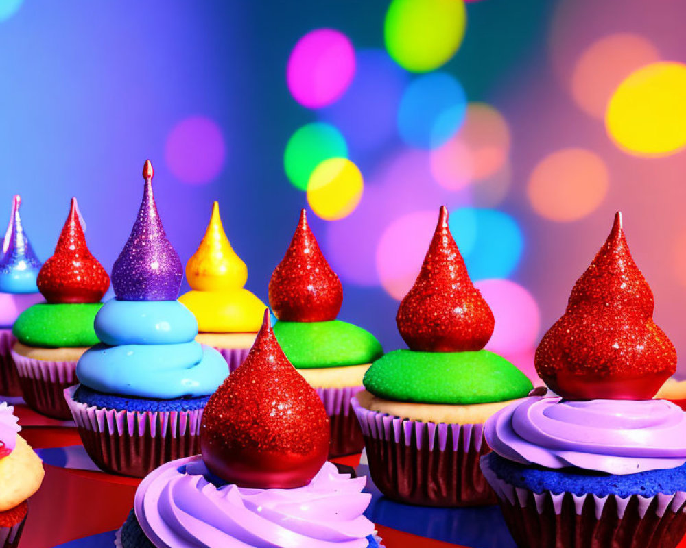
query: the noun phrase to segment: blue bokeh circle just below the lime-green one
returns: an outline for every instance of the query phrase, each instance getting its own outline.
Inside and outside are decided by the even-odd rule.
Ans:
[[[460,129],[466,114],[466,95],[460,83],[446,73],[416,78],[403,94],[398,131],[407,145],[440,147]]]

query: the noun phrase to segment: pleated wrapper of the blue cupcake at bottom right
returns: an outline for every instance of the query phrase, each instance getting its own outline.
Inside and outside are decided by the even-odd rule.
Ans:
[[[510,533],[529,548],[675,548],[686,533],[686,493],[599,497],[533,493],[500,479],[482,461]]]

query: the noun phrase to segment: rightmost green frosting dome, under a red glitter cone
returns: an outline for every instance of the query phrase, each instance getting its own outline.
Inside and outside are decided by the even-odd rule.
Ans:
[[[470,405],[525,397],[533,385],[517,367],[488,350],[394,350],[372,364],[364,387],[384,399]]]

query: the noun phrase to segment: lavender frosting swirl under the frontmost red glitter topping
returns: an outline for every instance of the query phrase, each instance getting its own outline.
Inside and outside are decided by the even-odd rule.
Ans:
[[[134,510],[157,548],[207,546],[365,548],[374,524],[362,512],[366,478],[351,479],[327,462],[296,489],[216,487],[200,456],[174,460],[147,475]]]

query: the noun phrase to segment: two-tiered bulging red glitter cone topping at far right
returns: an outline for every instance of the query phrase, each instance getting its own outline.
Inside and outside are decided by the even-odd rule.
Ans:
[[[676,371],[652,321],[652,291],[631,257],[622,214],[536,349],[536,372],[567,399],[650,399]]]

